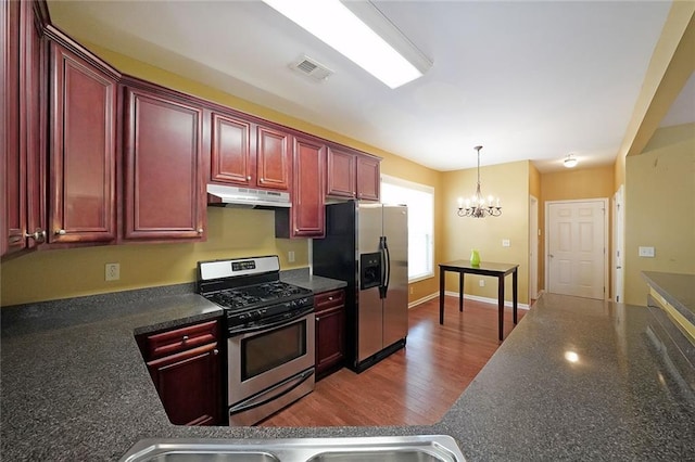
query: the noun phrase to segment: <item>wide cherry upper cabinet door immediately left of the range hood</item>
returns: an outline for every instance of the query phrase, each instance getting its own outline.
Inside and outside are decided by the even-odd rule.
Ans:
[[[199,239],[205,196],[202,110],[126,90],[125,239]]]

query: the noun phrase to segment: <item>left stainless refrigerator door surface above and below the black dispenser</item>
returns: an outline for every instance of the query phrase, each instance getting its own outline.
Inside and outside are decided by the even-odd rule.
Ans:
[[[381,204],[359,204],[357,209],[357,252],[359,255],[379,253],[379,238],[383,227]],[[359,265],[359,259],[358,259]],[[358,273],[362,273],[359,268]],[[357,292],[357,362],[383,348],[383,313],[379,287]]]

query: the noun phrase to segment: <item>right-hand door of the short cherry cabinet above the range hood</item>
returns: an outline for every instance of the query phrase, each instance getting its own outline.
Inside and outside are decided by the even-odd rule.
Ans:
[[[258,126],[256,136],[256,185],[290,189],[290,136]]]

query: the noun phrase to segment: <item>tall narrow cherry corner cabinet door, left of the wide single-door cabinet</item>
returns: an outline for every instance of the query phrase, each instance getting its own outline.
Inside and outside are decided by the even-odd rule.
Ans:
[[[51,44],[50,242],[116,239],[116,81]]]

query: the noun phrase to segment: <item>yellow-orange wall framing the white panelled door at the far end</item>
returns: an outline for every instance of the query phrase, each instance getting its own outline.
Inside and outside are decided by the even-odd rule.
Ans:
[[[543,231],[539,239],[539,288],[545,288],[545,203],[547,201],[573,201],[602,197],[610,200],[612,194],[612,166],[584,169],[574,168],[541,175],[539,221]],[[609,213],[606,214],[606,219],[608,223],[610,223]],[[608,239],[608,245],[610,245],[610,239]],[[611,255],[610,252],[608,255]]]

